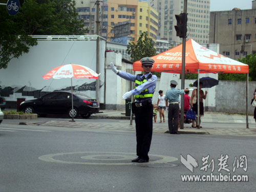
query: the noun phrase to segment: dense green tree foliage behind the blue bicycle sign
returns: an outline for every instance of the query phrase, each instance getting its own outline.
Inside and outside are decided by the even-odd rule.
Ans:
[[[77,19],[72,0],[25,0],[14,16],[7,13],[5,6],[0,6],[0,12],[0,69],[6,69],[12,58],[37,45],[30,35],[84,34],[83,22]]]

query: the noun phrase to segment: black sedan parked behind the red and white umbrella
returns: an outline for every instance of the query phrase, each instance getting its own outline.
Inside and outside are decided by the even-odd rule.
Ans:
[[[74,118],[78,115],[89,118],[91,114],[99,112],[99,103],[87,95],[73,92],[73,110]],[[20,103],[19,111],[37,113],[41,117],[48,114],[68,114],[72,117],[71,91],[55,91],[38,99],[23,101]]]

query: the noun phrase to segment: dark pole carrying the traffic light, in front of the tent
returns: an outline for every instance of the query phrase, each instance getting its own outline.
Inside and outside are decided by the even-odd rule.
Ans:
[[[185,54],[186,54],[186,36],[187,36],[187,0],[184,0],[183,13],[175,15],[177,26],[175,30],[177,36],[182,37],[182,71],[181,71],[181,89],[184,89],[185,84]],[[181,111],[180,111],[180,129],[184,129],[184,94],[181,95]]]

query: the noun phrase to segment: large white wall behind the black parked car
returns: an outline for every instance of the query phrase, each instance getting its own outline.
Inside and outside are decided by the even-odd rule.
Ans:
[[[104,83],[104,52],[105,41],[100,41],[100,84]],[[44,80],[42,75],[51,69],[74,63],[83,65],[96,71],[96,40],[38,40],[38,45],[32,47],[18,59],[12,59],[7,69],[0,70],[0,84],[5,87],[32,87],[35,90],[54,91],[71,86],[71,79]],[[73,86],[94,82],[95,79],[74,79]],[[88,96],[96,97],[95,91],[84,92]],[[103,102],[104,86],[100,89],[100,102]],[[6,98],[16,100],[14,98]]]

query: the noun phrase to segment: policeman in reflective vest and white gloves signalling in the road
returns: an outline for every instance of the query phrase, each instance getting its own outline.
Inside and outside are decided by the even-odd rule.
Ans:
[[[140,60],[143,74],[132,75],[123,71],[118,71],[113,62],[110,63],[112,71],[118,76],[135,82],[133,90],[126,92],[123,99],[134,96],[135,102],[132,103],[132,112],[135,114],[137,158],[132,162],[148,162],[148,152],[153,133],[153,104],[152,97],[156,89],[157,76],[151,73],[154,59],[144,57]]]

